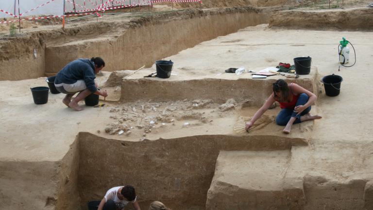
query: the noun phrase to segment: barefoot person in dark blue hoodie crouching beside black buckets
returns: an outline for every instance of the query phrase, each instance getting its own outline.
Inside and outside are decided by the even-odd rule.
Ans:
[[[105,62],[100,57],[92,57],[90,60],[77,59],[68,63],[57,73],[54,80],[56,89],[66,94],[62,102],[76,111],[81,111],[83,108],[78,105],[78,102],[85,99],[89,94],[94,93],[106,97],[106,90],[97,89],[95,83],[95,75],[104,66]],[[77,92],[79,92],[78,95],[71,101],[72,96]]]

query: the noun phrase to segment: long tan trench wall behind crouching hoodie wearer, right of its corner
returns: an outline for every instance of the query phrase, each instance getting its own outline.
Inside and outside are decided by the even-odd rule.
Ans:
[[[137,19],[118,38],[90,40],[47,48],[46,70],[58,72],[76,57],[100,55],[105,71],[136,70],[220,35],[266,21],[258,9],[197,10],[178,17]],[[66,52],[70,52],[65,57]]]

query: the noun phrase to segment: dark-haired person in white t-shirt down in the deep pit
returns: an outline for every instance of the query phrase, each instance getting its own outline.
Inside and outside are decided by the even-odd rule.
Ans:
[[[122,210],[130,202],[135,210],[140,210],[136,198],[135,188],[131,185],[113,187],[102,198],[98,210]]]

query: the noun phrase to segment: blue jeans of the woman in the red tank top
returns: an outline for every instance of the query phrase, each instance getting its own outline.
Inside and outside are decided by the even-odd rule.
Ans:
[[[298,101],[295,104],[295,106],[298,105],[305,105],[308,101],[308,95],[305,93],[302,93],[299,95]],[[294,111],[294,109],[289,108],[283,108],[278,113],[276,117],[276,123],[278,125],[286,125],[288,124],[291,117],[296,117],[297,119],[294,121],[294,124],[301,123],[301,116],[307,114],[311,110],[311,106],[308,106],[300,115],[297,115],[298,113]]]

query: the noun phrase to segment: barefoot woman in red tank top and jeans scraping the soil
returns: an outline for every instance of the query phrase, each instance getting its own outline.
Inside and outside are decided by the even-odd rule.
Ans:
[[[279,79],[272,85],[273,92],[266,103],[254,114],[253,118],[246,123],[246,130],[249,130],[255,121],[267,111],[275,102],[279,102],[281,111],[276,117],[276,123],[286,125],[283,132],[290,133],[291,125],[303,121],[317,120],[322,117],[311,115],[311,105],[316,101],[317,96],[311,91],[300,87],[295,83],[288,84],[285,80]]]

